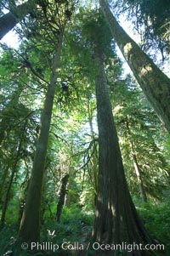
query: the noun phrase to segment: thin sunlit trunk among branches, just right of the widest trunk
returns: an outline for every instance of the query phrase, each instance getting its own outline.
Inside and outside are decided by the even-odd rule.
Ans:
[[[138,179],[140,195],[141,195],[142,200],[144,202],[147,202],[147,196],[146,196],[146,193],[144,191],[144,183],[143,183],[143,179],[142,179],[142,174],[141,174],[141,171],[140,171],[140,168],[139,168],[138,158],[135,154],[133,139],[132,139],[132,136],[131,136],[131,131],[130,131],[129,125],[128,125],[128,120],[126,120],[126,126],[127,126],[127,134],[129,136],[130,148],[131,148],[131,151],[132,151],[133,167],[134,167],[137,179]]]

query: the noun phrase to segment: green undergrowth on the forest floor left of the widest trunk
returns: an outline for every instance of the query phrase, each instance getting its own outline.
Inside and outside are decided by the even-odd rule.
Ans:
[[[42,230],[41,230],[41,242],[39,244],[44,245],[47,242],[49,247],[53,244],[59,245],[59,249],[56,252],[50,250],[38,249],[37,253],[32,253],[31,250],[21,250],[20,256],[29,255],[44,255],[44,256],[55,256],[55,255],[74,255],[74,250],[63,250],[61,245],[65,242],[71,243],[73,246],[77,245],[76,242],[81,241],[83,234],[83,228],[88,229],[89,234],[92,231],[94,224],[94,213],[84,212],[78,204],[71,205],[71,208],[63,208],[60,222],[57,223],[53,219],[44,219]],[[6,256],[7,252],[14,252],[15,245],[14,240],[17,236],[18,226],[16,225],[6,225],[3,230],[0,231],[0,256]],[[10,242],[11,241],[11,242]],[[40,247],[39,247],[40,248]],[[19,256],[18,253],[13,253],[13,256]]]

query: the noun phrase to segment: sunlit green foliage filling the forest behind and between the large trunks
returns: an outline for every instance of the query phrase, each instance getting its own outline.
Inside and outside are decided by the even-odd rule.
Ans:
[[[21,139],[22,145],[8,196],[5,227],[0,231],[1,253],[14,249],[14,239],[18,232],[19,203],[26,199],[55,45],[59,32],[65,26],[65,20],[71,18],[68,12],[74,10],[74,3],[75,1],[62,0],[39,1],[36,16],[28,15],[17,28],[21,40],[20,48],[14,50],[2,45],[0,57],[2,89],[0,93],[0,185],[3,187],[0,201],[2,206]],[[151,2],[148,1],[147,4],[148,9],[145,11],[150,12],[147,15],[151,17]],[[142,8],[144,9],[144,6]],[[154,5],[153,19],[156,9]],[[163,23],[164,21],[162,20]],[[141,24],[142,22],[143,20]],[[156,22],[158,22],[157,18]],[[153,26],[154,23],[151,25]],[[134,175],[133,154],[129,145],[132,140],[144,179],[144,189],[150,201],[161,200],[165,195],[164,190],[167,189],[169,162],[165,161],[165,156],[168,157],[170,152],[169,138],[164,145],[166,148],[164,156],[161,151],[164,130],[160,128],[156,115],[150,110],[132,79],[122,78],[122,63],[116,56],[115,45],[111,40],[111,32],[104,17],[99,9],[89,10],[81,7],[72,15],[71,22],[65,28],[45,166],[42,242],[52,241],[61,244],[64,240],[81,241],[82,223],[88,227],[89,233],[94,224],[94,200],[98,191],[99,162],[94,91],[94,75],[97,66],[94,63],[93,50],[96,38],[100,41],[105,53],[105,70],[111,89],[116,126],[131,193],[138,197],[138,205],[139,188]],[[68,86],[67,91],[62,88],[63,82]],[[127,134],[127,120],[131,134]],[[7,168],[8,173],[5,177]],[[70,196],[70,202],[65,202],[68,207],[64,206],[60,223],[57,223],[54,216],[59,200],[58,191],[65,174],[70,174],[71,177],[67,195]],[[169,209],[168,203],[139,204],[139,213],[146,227],[153,237],[167,243],[167,246],[170,238]],[[2,207],[0,210],[2,212]],[[48,230],[55,230],[56,236],[49,236]],[[60,250],[56,253],[37,252],[34,255],[59,255],[59,253],[62,252]],[[90,253],[93,254],[93,252]],[[66,254],[71,253],[65,252]],[[22,252],[20,255],[28,256],[31,252]]]

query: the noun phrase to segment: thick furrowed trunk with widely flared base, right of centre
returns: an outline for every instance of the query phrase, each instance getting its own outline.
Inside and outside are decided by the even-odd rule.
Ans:
[[[122,156],[111,110],[102,49],[94,49],[98,63],[96,97],[99,128],[99,190],[94,221],[94,241],[104,244],[150,243],[127,188]],[[123,248],[122,248],[123,249]],[[96,252],[96,255],[120,255],[118,250]],[[124,252],[127,253],[127,252]],[[130,254],[130,253],[129,253]],[[133,248],[131,255],[148,255]],[[124,254],[123,254],[124,255]]]

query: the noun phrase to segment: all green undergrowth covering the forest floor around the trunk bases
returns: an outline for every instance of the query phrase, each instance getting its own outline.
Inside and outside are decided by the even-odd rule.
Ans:
[[[170,203],[142,203],[135,202],[140,218],[143,220],[146,229],[150,235],[161,244],[165,245],[165,255],[170,255]],[[94,224],[94,213],[85,212],[77,204],[71,205],[71,208],[63,208],[60,222],[53,219],[44,219],[41,231],[41,243],[51,242],[58,244],[59,249],[56,252],[41,251],[31,253],[29,250],[22,250],[20,256],[44,255],[44,256],[62,256],[75,255],[71,250],[63,251],[60,246],[63,242],[80,242],[82,239],[83,228],[88,228],[91,232]],[[6,225],[0,230],[0,256],[6,256],[8,251],[14,251],[14,241],[17,236],[18,226]],[[90,239],[90,237],[89,237]],[[16,256],[15,253],[12,254]],[[159,253],[158,253],[159,255]],[[17,256],[19,256],[17,254]]]

